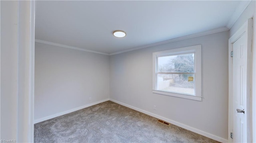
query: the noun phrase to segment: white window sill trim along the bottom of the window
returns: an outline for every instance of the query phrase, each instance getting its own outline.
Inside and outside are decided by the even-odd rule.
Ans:
[[[162,95],[174,96],[174,97],[179,97],[179,98],[186,98],[186,99],[190,99],[190,100],[202,101],[202,96],[178,94],[178,93],[172,93],[172,92],[166,92],[166,91],[154,90],[154,89],[152,90],[152,92],[156,93],[156,94],[162,94]]]

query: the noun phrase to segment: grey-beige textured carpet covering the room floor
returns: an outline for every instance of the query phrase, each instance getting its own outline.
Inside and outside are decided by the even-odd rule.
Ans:
[[[111,101],[34,125],[35,143],[218,143]]]

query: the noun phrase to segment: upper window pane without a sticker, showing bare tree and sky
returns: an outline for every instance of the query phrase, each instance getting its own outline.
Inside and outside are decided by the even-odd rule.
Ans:
[[[194,72],[195,54],[158,57],[157,72]]]

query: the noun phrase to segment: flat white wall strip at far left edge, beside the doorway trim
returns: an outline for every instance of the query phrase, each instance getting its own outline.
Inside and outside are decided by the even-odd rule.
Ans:
[[[17,139],[17,95],[18,2],[1,1],[1,139]]]

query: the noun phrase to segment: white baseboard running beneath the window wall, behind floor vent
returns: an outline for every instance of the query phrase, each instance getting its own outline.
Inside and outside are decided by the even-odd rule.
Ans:
[[[149,115],[149,116],[152,116],[152,117],[154,117],[154,118],[162,119],[162,120],[164,120],[164,121],[167,121],[167,122],[169,122],[169,123],[172,123],[172,124],[174,124],[174,125],[177,125],[177,126],[179,126],[179,127],[182,127],[182,128],[184,128],[184,129],[193,131],[194,133],[198,133],[198,134],[203,135],[203,136],[205,136],[205,137],[208,137],[208,138],[210,138],[210,139],[214,139],[214,140],[219,141],[219,142],[222,142],[222,143],[227,143],[227,142],[228,142],[227,139],[223,139],[223,138],[218,137],[218,136],[216,136],[216,135],[212,135],[212,134],[210,134],[210,133],[206,133],[205,131],[201,131],[201,130],[196,129],[196,128],[194,128],[194,127],[190,127],[190,126],[188,126],[188,125],[184,125],[184,124],[179,123],[179,122],[177,122],[177,121],[173,121],[173,120],[171,120],[171,119],[167,119],[167,118],[164,118],[164,117],[162,117],[162,116],[158,116],[158,115],[153,114],[153,113],[151,113],[151,112],[148,112],[148,111],[145,111],[145,110],[141,110],[141,109],[136,108],[136,107],[134,107],[134,106],[130,106],[130,105],[128,105],[128,104],[125,104],[125,103],[122,103],[122,102],[119,102],[119,101],[116,101],[116,100],[113,100],[113,99],[110,99],[110,101],[115,102],[115,103],[117,103],[117,104],[120,104],[120,105],[122,105],[122,106],[126,106],[126,107],[131,108],[131,109],[133,109],[133,110],[136,110],[136,111],[138,111],[138,112],[142,112],[142,113],[147,114],[147,115]]]

